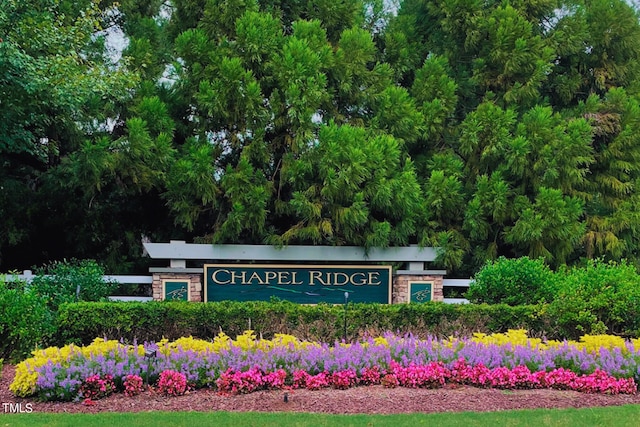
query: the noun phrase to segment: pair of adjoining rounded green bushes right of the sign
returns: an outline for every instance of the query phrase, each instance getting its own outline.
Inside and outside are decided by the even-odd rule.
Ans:
[[[542,259],[499,258],[475,276],[473,303],[546,304],[553,334],[640,334],[640,275],[625,261],[589,260],[552,271]]]

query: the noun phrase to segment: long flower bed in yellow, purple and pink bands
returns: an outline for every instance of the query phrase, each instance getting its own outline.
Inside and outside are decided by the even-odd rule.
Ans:
[[[640,343],[613,336],[543,342],[525,331],[468,339],[371,338],[313,343],[288,335],[256,339],[251,331],[212,342],[182,338],[140,345],[96,339],[86,347],[34,352],[21,362],[11,391],[43,400],[96,399],[154,386],[165,395],[211,387],[222,393],[261,389],[345,389],[358,385],[559,388],[635,393]]]

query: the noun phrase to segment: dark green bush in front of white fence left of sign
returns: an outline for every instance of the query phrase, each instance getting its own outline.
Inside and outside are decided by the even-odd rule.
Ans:
[[[117,287],[103,280],[104,269],[94,260],[55,261],[35,273],[30,287],[54,311],[67,302],[100,301]]]

